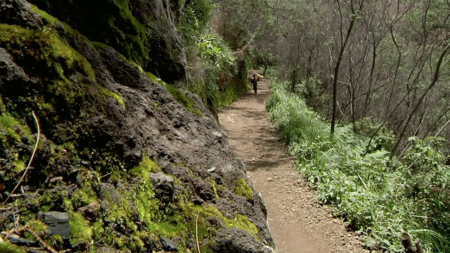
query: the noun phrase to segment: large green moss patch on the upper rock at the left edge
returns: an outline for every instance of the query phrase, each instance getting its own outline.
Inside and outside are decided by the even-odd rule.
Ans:
[[[96,82],[94,70],[90,63],[74,48],[66,44],[51,28],[43,30],[28,30],[16,25],[0,24],[0,44],[13,56],[16,63],[24,66],[28,74],[46,73],[42,92],[44,96],[28,96],[15,98],[18,101],[9,101],[7,107],[15,110],[18,102],[30,103],[39,108],[41,117],[48,116],[57,120],[56,108],[71,108],[80,97],[86,95],[86,89],[73,79],[74,70],[85,74],[91,82]],[[27,48],[24,51],[23,48]],[[30,61],[33,62],[30,65]],[[32,66],[32,67],[30,67]],[[50,95],[51,94],[51,95]]]

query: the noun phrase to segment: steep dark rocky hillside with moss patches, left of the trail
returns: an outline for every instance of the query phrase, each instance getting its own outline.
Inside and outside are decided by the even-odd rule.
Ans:
[[[167,1],[31,2],[0,2],[0,252],[273,251],[202,100],[144,71],[183,79]]]

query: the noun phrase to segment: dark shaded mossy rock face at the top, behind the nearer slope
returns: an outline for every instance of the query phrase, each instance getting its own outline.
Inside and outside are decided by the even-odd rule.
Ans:
[[[78,30],[91,41],[158,72],[166,82],[186,79],[186,56],[165,1],[30,0],[41,10]]]

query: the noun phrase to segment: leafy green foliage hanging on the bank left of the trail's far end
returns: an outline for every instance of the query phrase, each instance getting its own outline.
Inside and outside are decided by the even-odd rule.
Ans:
[[[207,26],[211,11],[210,1],[190,1],[178,25],[188,56],[186,88],[197,93],[210,110],[229,105],[245,91],[245,78],[236,72],[231,49]]]

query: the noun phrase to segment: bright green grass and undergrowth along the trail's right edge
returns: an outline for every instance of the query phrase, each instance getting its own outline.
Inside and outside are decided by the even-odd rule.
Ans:
[[[328,122],[304,100],[273,83],[266,102],[271,120],[297,157],[297,168],[318,191],[319,201],[333,207],[368,247],[403,252],[401,236],[423,240],[426,252],[450,252],[450,167],[442,140],[411,138],[411,148],[395,166],[389,159],[395,141],[381,131],[368,149],[373,126],[340,125],[330,138]],[[366,150],[369,150],[366,153]]]

